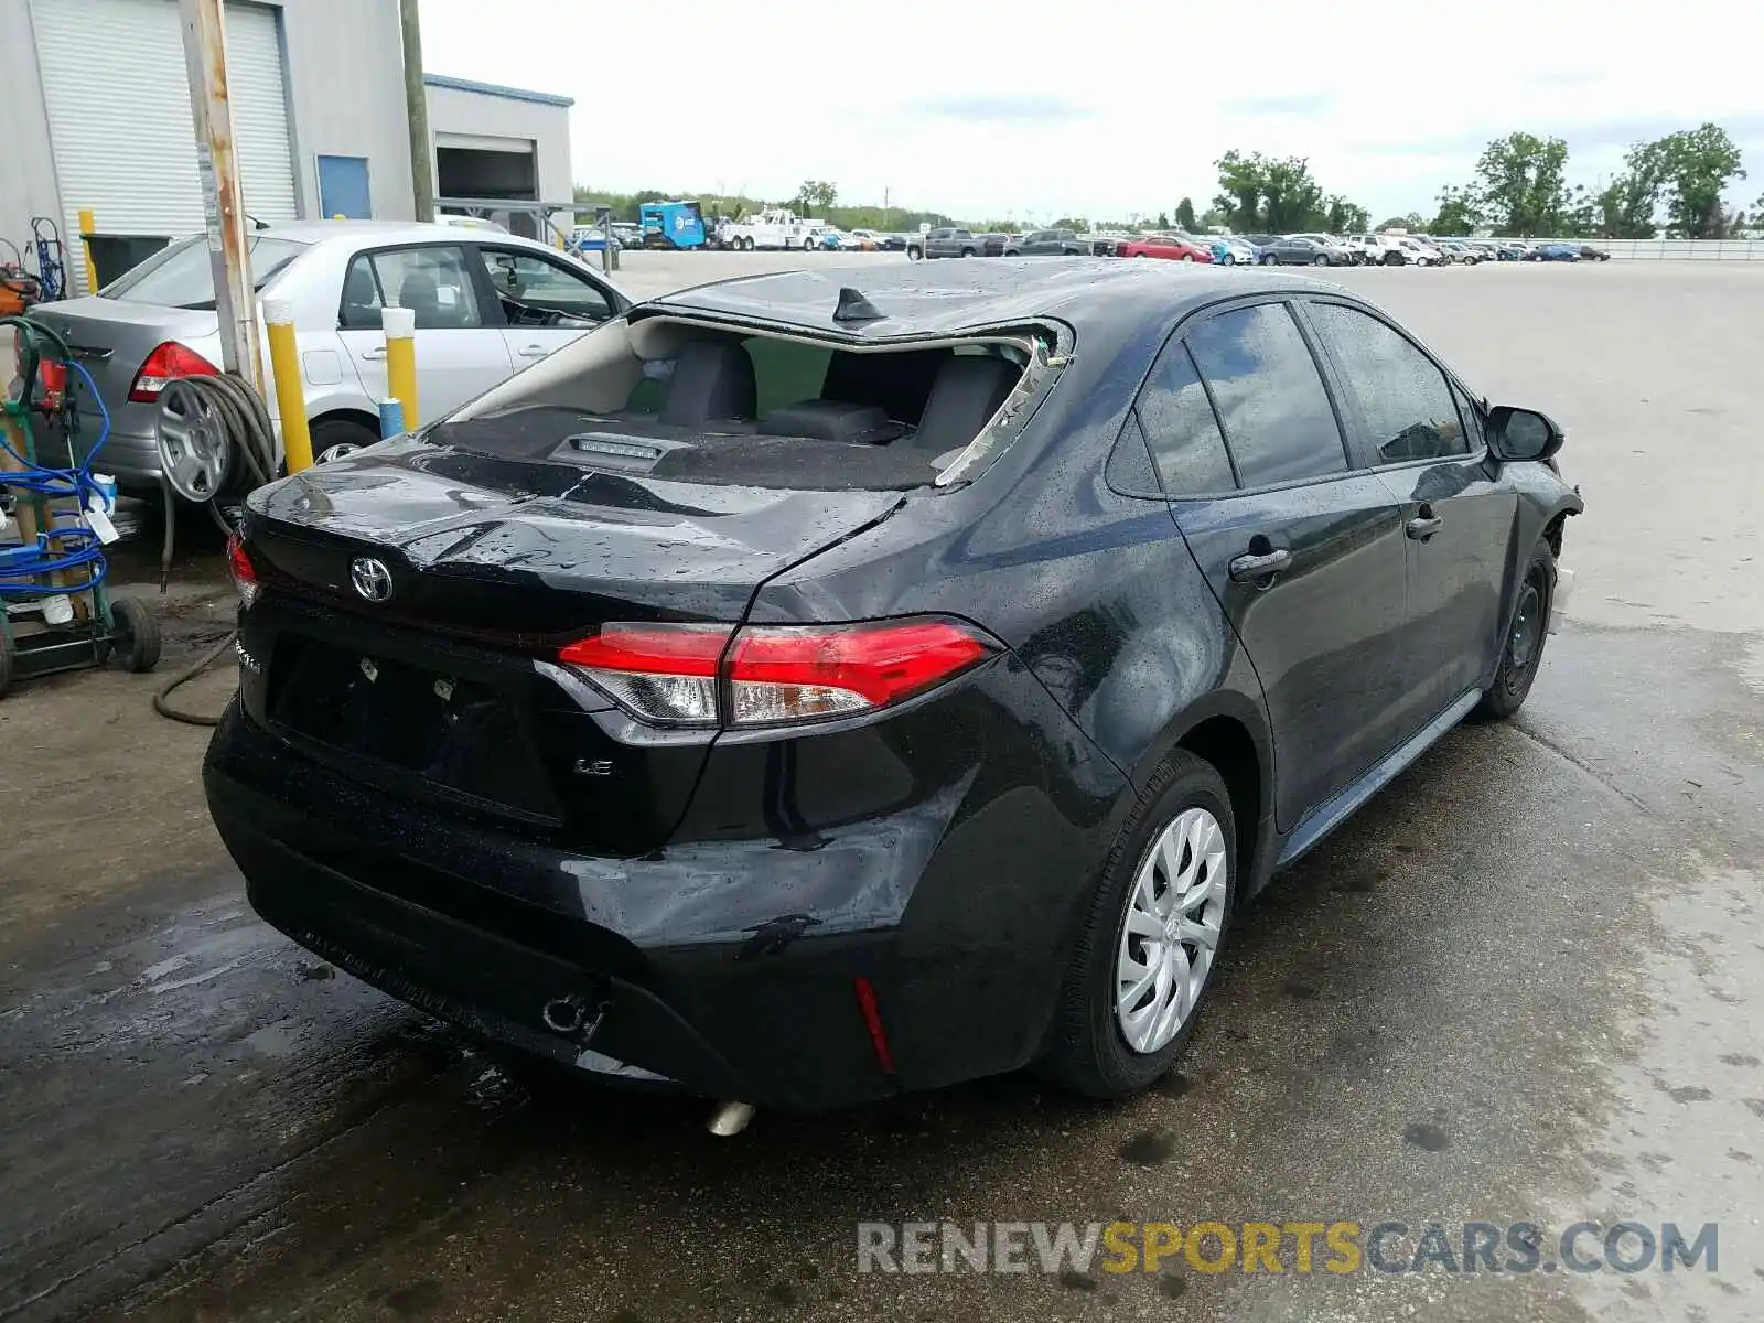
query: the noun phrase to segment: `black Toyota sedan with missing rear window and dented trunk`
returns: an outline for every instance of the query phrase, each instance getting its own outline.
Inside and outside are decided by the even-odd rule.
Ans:
[[[586,1073],[1132,1094],[1242,901],[1524,702],[1561,432],[1305,279],[840,275],[256,492],[208,803],[272,924]]]

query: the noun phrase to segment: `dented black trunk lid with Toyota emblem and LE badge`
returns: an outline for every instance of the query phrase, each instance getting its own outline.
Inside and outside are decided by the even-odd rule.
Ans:
[[[644,854],[714,732],[642,727],[549,660],[607,621],[739,623],[766,579],[900,501],[374,448],[250,496],[266,594],[242,621],[245,706],[344,776]],[[358,557],[386,568],[385,602],[356,589]]]

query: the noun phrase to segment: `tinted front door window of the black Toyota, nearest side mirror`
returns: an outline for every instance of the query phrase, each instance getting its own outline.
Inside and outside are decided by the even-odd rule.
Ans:
[[[1358,309],[1311,303],[1307,312],[1378,464],[1469,453],[1452,386],[1432,358]]]

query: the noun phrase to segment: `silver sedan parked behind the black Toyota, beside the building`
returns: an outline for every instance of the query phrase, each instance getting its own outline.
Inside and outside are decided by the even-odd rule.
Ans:
[[[557,249],[492,229],[303,220],[252,231],[249,243],[259,296],[295,309],[316,455],[379,439],[388,395],[379,314],[390,303],[416,312],[418,397],[427,416],[439,416],[632,302]],[[32,316],[78,348],[104,395],[106,471],[125,492],[157,492],[166,381],[220,370],[206,236],[173,243],[95,296]],[[273,386],[270,413],[280,416]],[[55,453],[53,439],[46,445]]]

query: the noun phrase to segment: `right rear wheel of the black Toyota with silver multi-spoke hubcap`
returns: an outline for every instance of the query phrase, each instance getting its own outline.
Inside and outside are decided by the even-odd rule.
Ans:
[[[1210,990],[1235,878],[1231,797],[1178,750],[1140,794],[1085,916],[1044,1062],[1057,1080],[1115,1099],[1170,1071]]]

